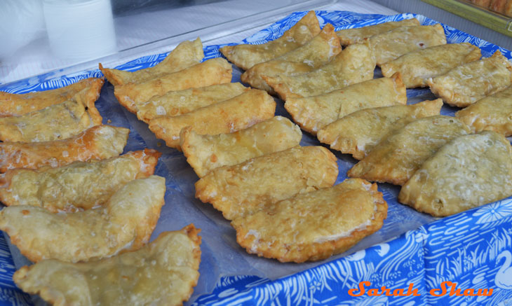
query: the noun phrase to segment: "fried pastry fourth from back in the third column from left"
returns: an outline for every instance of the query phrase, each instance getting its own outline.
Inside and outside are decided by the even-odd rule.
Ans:
[[[400,74],[396,74],[392,78],[375,78],[324,95],[289,98],[285,109],[302,130],[316,134],[325,125],[354,111],[405,103],[405,86]]]

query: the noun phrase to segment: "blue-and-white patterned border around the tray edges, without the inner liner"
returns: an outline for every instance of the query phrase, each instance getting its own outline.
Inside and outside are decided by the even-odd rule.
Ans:
[[[288,15],[267,29],[243,40],[262,43],[276,39],[306,12]],[[423,25],[438,23],[422,15],[369,15],[345,11],[316,11],[321,25],[336,29],[376,25],[382,22],[418,18]],[[484,56],[500,50],[509,59],[511,52],[443,25],[448,42],[469,42],[482,49]],[[205,59],[219,57],[220,46],[206,46]],[[154,66],[167,53],[140,57],[117,68],[134,71]],[[48,79],[44,74],[0,87],[15,93],[48,90],[82,78],[102,76],[100,71],[83,71],[74,76]],[[276,279],[254,276],[223,277],[212,293],[202,295],[193,305],[511,305],[512,304],[512,199],[471,209],[410,230],[388,242],[377,244],[330,263]],[[2,305],[31,305],[11,279],[15,268],[11,253],[0,237],[0,301]],[[418,295],[349,295],[369,281],[370,288],[386,286],[391,292],[413,284]],[[492,289],[491,296],[432,295],[445,281],[457,288]],[[450,287],[447,288],[448,293]],[[355,291],[354,293],[358,293]],[[381,291],[382,292],[382,291]],[[476,291],[475,291],[476,292]],[[441,290],[433,293],[441,293]]]

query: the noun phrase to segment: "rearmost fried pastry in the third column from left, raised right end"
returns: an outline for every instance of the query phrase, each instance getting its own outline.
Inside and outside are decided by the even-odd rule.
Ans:
[[[283,36],[260,45],[238,45],[220,48],[222,55],[237,67],[247,70],[255,64],[267,62],[303,46],[320,33],[320,25],[314,11],[309,11]]]

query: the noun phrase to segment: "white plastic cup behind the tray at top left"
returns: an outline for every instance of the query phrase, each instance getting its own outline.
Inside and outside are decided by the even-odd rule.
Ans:
[[[116,52],[110,0],[43,0],[53,53],[67,60],[86,60]]]

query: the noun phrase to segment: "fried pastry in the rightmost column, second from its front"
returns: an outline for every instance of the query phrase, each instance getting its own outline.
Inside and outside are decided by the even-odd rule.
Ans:
[[[466,107],[510,86],[512,65],[498,50],[492,57],[455,67],[427,83],[447,104]]]

